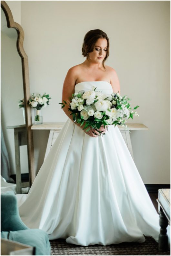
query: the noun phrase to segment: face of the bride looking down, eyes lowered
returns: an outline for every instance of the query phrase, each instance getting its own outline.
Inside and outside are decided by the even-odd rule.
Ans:
[[[88,60],[96,63],[102,63],[107,54],[106,38],[99,38],[96,41],[93,52],[88,53]]]

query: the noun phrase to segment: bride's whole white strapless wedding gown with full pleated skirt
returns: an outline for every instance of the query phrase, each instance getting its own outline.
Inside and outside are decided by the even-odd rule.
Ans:
[[[105,81],[78,83],[75,92],[92,86],[113,92]],[[20,204],[24,196],[16,196]],[[108,245],[144,242],[145,235],[158,241],[159,215],[117,126],[93,138],[68,118],[26,197],[21,219],[50,240]]]

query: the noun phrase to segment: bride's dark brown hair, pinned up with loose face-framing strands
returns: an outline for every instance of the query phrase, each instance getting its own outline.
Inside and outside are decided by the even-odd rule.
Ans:
[[[86,56],[86,58],[88,58],[88,53],[94,51],[96,41],[99,38],[106,38],[106,40],[107,40],[106,57],[103,60],[103,67],[104,67],[104,69],[106,69],[105,66],[104,66],[104,62],[106,61],[106,59],[109,56],[109,38],[106,35],[106,33],[103,32],[102,30],[100,30],[100,29],[93,29],[93,30],[88,31],[85,34],[84,42],[82,44],[82,55],[84,57]],[[87,47],[85,47],[85,46],[87,46]]]

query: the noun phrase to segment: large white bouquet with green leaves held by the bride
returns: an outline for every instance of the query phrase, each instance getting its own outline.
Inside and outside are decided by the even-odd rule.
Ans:
[[[70,115],[73,116],[74,122],[80,123],[80,127],[84,124],[83,130],[87,128],[89,131],[92,128],[99,129],[102,125],[121,125],[126,130],[129,130],[126,123],[126,119],[132,118],[133,115],[139,116],[136,112],[132,111],[128,100],[131,100],[126,95],[121,97],[120,94],[102,94],[100,91],[87,90],[79,93],[74,93],[70,98],[69,104],[59,103],[61,108],[65,107],[65,104],[70,106],[68,108],[71,111]],[[99,136],[101,136],[101,132]],[[130,132],[130,131],[129,131]],[[105,133],[103,133],[105,134]]]

